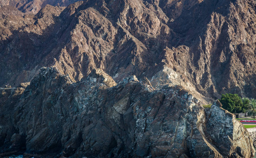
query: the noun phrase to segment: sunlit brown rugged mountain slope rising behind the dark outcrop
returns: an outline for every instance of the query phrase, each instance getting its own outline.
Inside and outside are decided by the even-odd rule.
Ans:
[[[62,9],[1,8],[0,85],[54,65],[72,81],[101,68],[116,82],[147,76],[154,87],[181,85],[203,101],[256,97],[252,0],[88,0]]]

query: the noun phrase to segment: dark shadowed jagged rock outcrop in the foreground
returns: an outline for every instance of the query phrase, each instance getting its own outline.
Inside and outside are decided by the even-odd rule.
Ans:
[[[205,109],[178,86],[153,90],[135,76],[109,86],[98,83],[103,76],[111,81],[94,70],[71,83],[56,68],[41,68],[21,93],[2,90],[1,153],[25,144],[23,152],[44,157],[254,155],[248,131],[218,101]]]

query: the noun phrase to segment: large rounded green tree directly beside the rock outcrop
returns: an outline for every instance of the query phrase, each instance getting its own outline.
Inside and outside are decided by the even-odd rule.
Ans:
[[[238,114],[242,112],[243,103],[237,94],[222,94],[220,102],[225,110]]]

